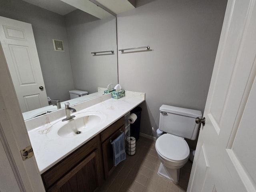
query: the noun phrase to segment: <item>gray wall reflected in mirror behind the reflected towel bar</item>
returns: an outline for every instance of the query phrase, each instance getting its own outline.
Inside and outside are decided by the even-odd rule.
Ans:
[[[117,84],[116,18],[98,20],[75,10],[65,16],[74,86],[89,93],[98,87]],[[91,52],[114,50],[114,54],[93,56]]]

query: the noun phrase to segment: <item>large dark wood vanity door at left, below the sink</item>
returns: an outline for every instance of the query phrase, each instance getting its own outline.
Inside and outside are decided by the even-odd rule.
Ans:
[[[100,171],[99,154],[98,150],[95,150],[48,191],[94,192],[99,187],[98,176]]]

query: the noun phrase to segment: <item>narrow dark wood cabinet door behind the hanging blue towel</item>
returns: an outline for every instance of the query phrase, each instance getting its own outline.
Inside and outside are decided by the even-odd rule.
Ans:
[[[110,136],[111,140],[114,140],[120,135],[120,132],[124,131],[125,126],[123,125],[121,128],[116,130],[114,134]],[[104,159],[104,171],[105,171],[105,178],[108,178],[110,174],[113,172],[114,166],[114,154],[112,144],[110,140],[107,139],[105,142],[102,143],[102,151],[103,151],[103,159]]]

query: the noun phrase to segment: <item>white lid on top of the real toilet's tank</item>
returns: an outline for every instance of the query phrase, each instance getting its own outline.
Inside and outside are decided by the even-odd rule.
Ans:
[[[194,117],[194,118],[196,117],[202,118],[202,112],[194,109],[186,109],[186,108],[174,107],[170,105],[162,105],[160,107],[160,111]]]

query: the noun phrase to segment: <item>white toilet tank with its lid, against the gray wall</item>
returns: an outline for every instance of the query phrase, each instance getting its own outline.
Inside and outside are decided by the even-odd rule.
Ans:
[[[162,105],[160,107],[159,129],[183,138],[195,140],[199,129],[195,119],[202,118],[198,110]]]

